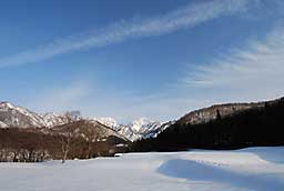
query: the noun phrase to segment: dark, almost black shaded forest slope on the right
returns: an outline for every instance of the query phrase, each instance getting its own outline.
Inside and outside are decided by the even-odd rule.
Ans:
[[[262,105],[262,107],[260,107]],[[219,109],[207,122],[181,118],[154,139],[133,143],[132,151],[176,151],[190,148],[237,149],[284,144],[284,98],[222,117]]]

